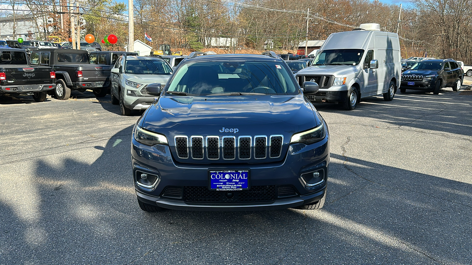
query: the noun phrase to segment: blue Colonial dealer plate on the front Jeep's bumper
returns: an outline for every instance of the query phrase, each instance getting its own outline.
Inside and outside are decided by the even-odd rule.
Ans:
[[[248,190],[249,170],[209,170],[210,190]]]

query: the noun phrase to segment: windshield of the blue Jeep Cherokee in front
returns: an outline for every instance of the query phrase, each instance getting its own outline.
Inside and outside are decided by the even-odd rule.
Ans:
[[[167,91],[198,96],[226,93],[300,93],[293,81],[292,72],[288,72],[280,62],[246,60],[186,63],[180,66]]]

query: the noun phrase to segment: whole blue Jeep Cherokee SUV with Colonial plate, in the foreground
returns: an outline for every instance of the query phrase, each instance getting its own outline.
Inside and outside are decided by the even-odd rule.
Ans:
[[[323,207],[328,127],[274,52],[194,52],[146,91],[131,147],[144,211]]]

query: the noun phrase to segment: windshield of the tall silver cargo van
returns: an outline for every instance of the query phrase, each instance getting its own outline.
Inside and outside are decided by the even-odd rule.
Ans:
[[[337,49],[323,50],[316,55],[314,65],[353,65],[361,62],[364,50],[361,49]]]

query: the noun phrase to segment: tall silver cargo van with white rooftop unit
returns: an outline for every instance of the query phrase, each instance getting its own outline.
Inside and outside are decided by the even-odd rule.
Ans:
[[[329,35],[312,66],[295,76],[300,86],[305,81],[320,86],[308,99],[342,103],[352,110],[362,98],[380,94],[386,101],[394,98],[400,85],[400,60],[396,33],[357,29]]]

